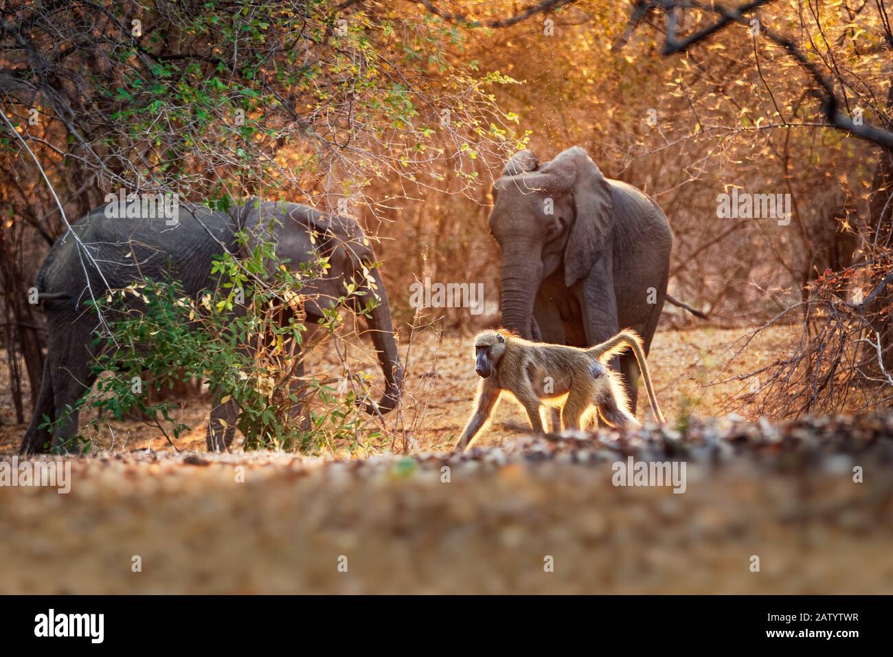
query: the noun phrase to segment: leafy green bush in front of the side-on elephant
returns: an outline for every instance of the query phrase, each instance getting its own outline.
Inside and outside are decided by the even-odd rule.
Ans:
[[[238,240],[248,244],[244,233]],[[171,401],[150,401],[147,388],[172,388],[183,378],[197,378],[212,383],[215,403],[238,404],[245,449],[319,451],[326,443],[379,437],[366,428],[357,408],[370,392],[362,377],[334,387],[333,380],[296,376],[306,358],[302,290],[329,265],[324,257],[300,271],[287,265],[276,259],[271,242],[262,242],[248,257],[215,258],[216,286],[196,298],[175,280],[146,278],[89,302],[106,318],[107,328],[97,330],[94,341],[96,386],[79,401],[79,408],[99,410],[85,426],[96,430],[104,414],[121,420],[138,410],[169,441],[171,435],[176,439],[190,427],[171,418]],[[332,336],[344,326],[338,307],[366,295],[362,288],[362,282],[347,283],[337,307],[324,311],[321,324]],[[357,300],[363,315],[375,305],[375,299]],[[305,406],[311,400],[319,402],[313,411]],[[291,417],[295,405],[304,406],[305,422]],[[83,431],[80,440],[89,442]]]

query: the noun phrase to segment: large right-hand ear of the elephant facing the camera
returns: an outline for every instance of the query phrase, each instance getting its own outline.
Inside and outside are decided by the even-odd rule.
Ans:
[[[564,284],[589,273],[613,228],[611,186],[586,151],[575,146],[540,170],[555,175],[556,185],[573,198],[574,216],[564,248]]]

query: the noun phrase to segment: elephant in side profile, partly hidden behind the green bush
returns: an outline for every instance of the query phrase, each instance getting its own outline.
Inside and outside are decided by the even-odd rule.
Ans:
[[[84,305],[90,294],[104,296],[143,277],[156,281],[171,276],[192,297],[213,287],[213,257],[224,248],[237,254],[236,233],[265,235],[276,244],[276,256],[288,258],[288,266],[300,269],[315,260],[313,253],[329,257],[330,268],[320,279],[302,289],[308,295],[308,325],[322,316],[322,307],[345,294],[344,283],[360,273],[362,265],[375,261],[369,241],[353,219],[322,215],[312,207],[294,203],[249,201],[226,212],[201,206],[179,206],[177,223],[166,216],[110,218],[105,206],[75,223],[73,233],[56,240],[38,273],[38,298],[44,304],[49,350],[34,416],[21,442],[21,452],[43,451],[50,436],[38,428],[46,415],[63,418],[53,435],[53,446],[63,451],[78,431],[78,414],[65,415],[96,380],[91,373],[97,347],[96,313]],[[275,221],[273,221],[275,220]],[[379,297],[368,320],[372,342],[384,371],[386,390],[378,410],[396,407],[403,387],[403,368],[397,355],[388,295],[377,269],[371,270]],[[362,280],[358,278],[358,280]],[[318,296],[316,296],[318,295]],[[365,303],[363,298],[363,304]],[[296,371],[303,375],[303,367]],[[367,411],[375,412],[370,405]],[[215,404],[208,423],[209,451],[230,446],[238,408],[235,401]],[[221,423],[221,419],[225,424]]]

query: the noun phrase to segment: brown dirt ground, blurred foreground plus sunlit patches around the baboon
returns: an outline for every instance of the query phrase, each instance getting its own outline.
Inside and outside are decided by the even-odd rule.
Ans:
[[[739,335],[659,334],[670,422],[625,435],[525,437],[505,404],[479,447],[447,453],[472,400],[470,338],[413,345],[409,457],[209,455],[199,402],[180,453],[111,425],[68,460],[70,493],[0,486],[0,594],[893,593],[893,415],[697,419],[747,400],[746,383],[706,385]],[[767,333],[730,374],[788,340]],[[10,461],[24,426],[2,411]],[[615,485],[630,457],[684,463],[685,492]]]

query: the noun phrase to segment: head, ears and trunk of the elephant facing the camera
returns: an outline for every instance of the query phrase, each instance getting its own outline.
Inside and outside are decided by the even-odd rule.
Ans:
[[[588,274],[613,227],[611,187],[580,147],[538,164],[523,150],[493,185],[490,232],[502,248],[503,325],[532,337],[540,282],[563,266],[571,286]]]

